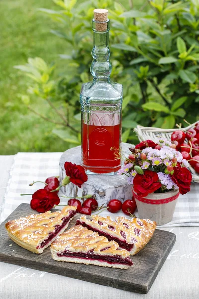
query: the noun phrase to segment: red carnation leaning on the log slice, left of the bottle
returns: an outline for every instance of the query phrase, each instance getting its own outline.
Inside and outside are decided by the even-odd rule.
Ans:
[[[88,177],[82,166],[72,164],[71,162],[66,162],[64,164],[64,168],[66,170],[66,175],[69,177],[69,180],[79,188],[81,188],[81,185],[87,181]]]

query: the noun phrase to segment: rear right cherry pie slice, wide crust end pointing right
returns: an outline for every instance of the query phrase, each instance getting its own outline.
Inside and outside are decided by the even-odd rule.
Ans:
[[[116,217],[100,217],[94,215],[91,219],[81,216],[76,225],[82,226],[113,240],[120,248],[126,249],[130,255],[138,253],[151,239],[156,228],[156,222],[149,219]]]

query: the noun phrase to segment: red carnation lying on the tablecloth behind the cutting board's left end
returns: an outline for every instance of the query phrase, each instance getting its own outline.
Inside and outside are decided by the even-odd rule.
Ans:
[[[60,199],[55,192],[49,192],[45,189],[39,189],[32,194],[30,202],[31,209],[39,213],[45,213],[60,203]]]

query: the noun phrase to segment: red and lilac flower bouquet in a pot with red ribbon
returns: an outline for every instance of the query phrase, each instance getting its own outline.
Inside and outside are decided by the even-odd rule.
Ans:
[[[133,185],[140,218],[159,225],[171,221],[179,193],[190,191],[188,162],[175,147],[167,139],[142,141],[129,148],[131,154],[118,172]]]

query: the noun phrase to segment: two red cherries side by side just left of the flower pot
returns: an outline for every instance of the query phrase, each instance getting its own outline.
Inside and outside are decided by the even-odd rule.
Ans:
[[[109,201],[108,211],[111,213],[117,213],[122,209],[122,212],[128,216],[133,215],[136,209],[136,202],[134,196],[131,199],[125,200],[123,203],[118,199],[112,199]]]

